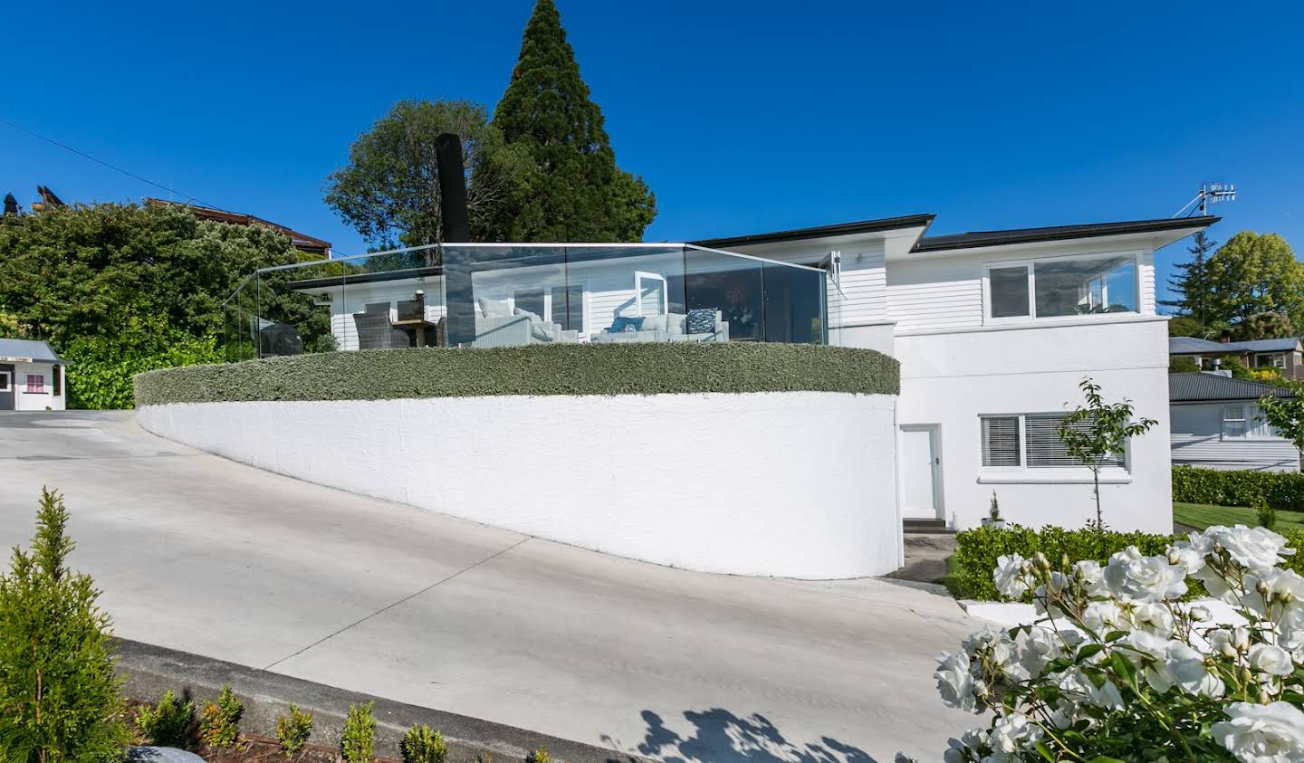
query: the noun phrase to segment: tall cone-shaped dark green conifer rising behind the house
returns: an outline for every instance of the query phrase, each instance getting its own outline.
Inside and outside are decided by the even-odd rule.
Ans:
[[[615,166],[602,112],[589,98],[553,0],[537,0],[493,124],[536,173],[494,230],[515,241],[639,241],[656,197]]]

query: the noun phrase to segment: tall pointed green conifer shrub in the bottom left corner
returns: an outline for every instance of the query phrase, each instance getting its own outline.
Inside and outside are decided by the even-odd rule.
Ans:
[[[63,497],[44,489],[31,550],[0,574],[0,760],[116,762],[130,740],[110,617],[89,575],[68,569]]]

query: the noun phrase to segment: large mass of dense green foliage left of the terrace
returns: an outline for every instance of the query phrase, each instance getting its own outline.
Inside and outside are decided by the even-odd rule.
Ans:
[[[130,406],[130,374],[222,359],[223,303],[258,267],[296,262],[280,232],[198,220],[184,207],[68,206],[0,226],[0,330],[69,361],[73,407]],[[279,293],[267,314],[305,344],[330,317]],[[273,309],[275,308],[275,309]]]

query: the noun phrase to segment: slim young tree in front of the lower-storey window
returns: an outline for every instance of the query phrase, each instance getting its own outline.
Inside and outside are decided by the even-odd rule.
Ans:
[[[1064,451],[1091,470],[1093,494],[1095,496],[1095,530],[1104,530],[1104,514],[1101,511],[1101,470],[1110,460],[1127,451],[1128,440],[1145,434],[1158,424],[1154,419],[1132,420],[1132,400],[1106,403],[1101,395],[1101,385],[1084,378],[1078,385],[1086,396],[1086,406],[1078,406],[1060,423],[1059,436]]]

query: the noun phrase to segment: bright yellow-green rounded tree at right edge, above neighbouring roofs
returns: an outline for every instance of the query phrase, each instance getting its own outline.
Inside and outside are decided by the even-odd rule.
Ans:
[[[1209,321],[1278,312],[1304,331],[1304,265],[1277,233],[1236,233],[1209,258],[1206,278]]]

